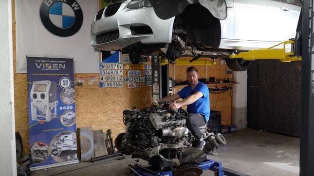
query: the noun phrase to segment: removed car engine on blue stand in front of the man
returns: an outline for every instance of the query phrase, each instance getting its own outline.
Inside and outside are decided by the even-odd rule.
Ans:
[[[182,108],[171,111],[168,107],[164,102],[155,107],[123,111],[127,130],[115,139],[117,149],[164,170],[201,163],[213,150],[226,144],[220,133],[210,133],[204,125],[200,127],[206,141],[203,150],[192,147],[195,138],[185,125],[188,113]]]

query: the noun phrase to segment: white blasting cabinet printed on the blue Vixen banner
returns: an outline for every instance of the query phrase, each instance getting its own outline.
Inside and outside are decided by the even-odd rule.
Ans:
[[[55,82],[50,80],[34,81],[30,96],[32,120],[50,122],[51,118],[56,116],[56,104],[58,103]],[[38,117],[44,117],[45,119],[38,119]]]

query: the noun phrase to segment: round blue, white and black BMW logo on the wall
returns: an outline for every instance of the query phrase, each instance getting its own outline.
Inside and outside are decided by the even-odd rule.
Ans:
[[[68,37],[81,28],[83,12],[75,0],[44,0],[40,6],[40,19],[49,32]]]

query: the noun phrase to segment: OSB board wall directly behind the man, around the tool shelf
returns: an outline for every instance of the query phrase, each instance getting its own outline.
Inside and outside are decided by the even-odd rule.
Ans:
[[[190,57],[181,57],[180,60],[191,60]],[[209,60],[208,58],[200,58],[199,60]],[[220,64],[220,59],[216,60],[215,65],[189,65],[195,66],[199,73],[199,79],[206,79],[206,67],[207,67],[207,79],[209,77],[215,77],[216,80],[221,79],[221,69],[222,69],[222,80],[232,80],[230,74],[226,74],[226,64]],[[178,66],[170,64],[169,66],[169,77],[172,77],[176,82],[182,82],[186,80],[186,69],[189,66]],[[175,73],[174,73],[175,71]],[[173,76],[175,74],[175,77]],[[177,86],[174,92],[177,93],[184,86]],[[222,112],[222,125],[230,125],[232,118],[232,92],[229,90],[224,93],[210,93],[210,109]],[[186,108],[186,107],[184,107]]]

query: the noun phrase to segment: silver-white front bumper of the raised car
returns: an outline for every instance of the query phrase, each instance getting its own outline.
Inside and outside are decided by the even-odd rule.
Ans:
[[[117,12],[99,20],[94,18],[91,26],[91,45],[100,50],[118,50],[135,43],[163,44],[171,43],[174,18],[163,20],[156,16],[152,7],[129,9],[130,0],[122,2]],[[148,26],[150,33],[132,34],[130,27]],[[98,40],[97,40],[98,37]],[[99,40],[103,37],[104,40]]]

